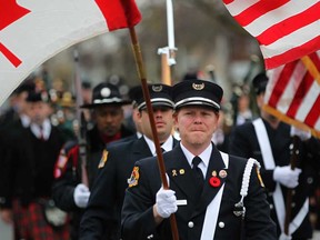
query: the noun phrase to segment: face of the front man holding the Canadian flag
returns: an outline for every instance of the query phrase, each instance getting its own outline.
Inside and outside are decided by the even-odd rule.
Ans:
[[[181,142],[187,148],[208,147],[218,127],[219,113],[207,107],[182,107],[174,114]]]

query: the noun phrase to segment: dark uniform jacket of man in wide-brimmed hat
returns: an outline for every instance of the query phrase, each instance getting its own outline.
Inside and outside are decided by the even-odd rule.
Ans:
[[[129,138],[129,136],[134,134],[132,134],[132,132],[124,126],[121,126],[121,137]],[[89,177],[89,189],[91,189],[98,172],[98,164],[101,159],[102,151],[106,149],[106,143],[101,139],[97,126],[87,132],[87,174]],[[78,239],[79,224],[84,212],[83,209],[76,206],[73,200],[74,188],[82,181],[79,144],[77,141],[69,141],[63,148],[66,154],[68,156],[68,161],[61,177],[57,178],[53,182],[52,197],[59,208],[72,213],[71,237],[72,239]]]

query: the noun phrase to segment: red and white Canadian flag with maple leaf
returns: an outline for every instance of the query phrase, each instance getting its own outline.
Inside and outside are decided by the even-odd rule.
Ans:
[[[37,67],[84,39],[141,20],[134,0],[6,0],[0,4],[0,106]]]

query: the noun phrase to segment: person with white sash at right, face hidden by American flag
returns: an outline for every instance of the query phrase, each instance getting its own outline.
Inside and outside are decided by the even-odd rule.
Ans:
[[[318,161],[320,159],[319,141],[311,138],[309,132],[281,122],[261,108],[267,83],[266,72],[253,78],[252,84],[261,118],[234,128],[230,136],[229,150],[231,154],[254,158],[260,162],[261,176],[268,191],[271,218],[278,227],[278,238],[307,240],[312,238],[308,200],[313,182],[310,170],[317,169],[317,159]],[[291,170],[290,146],[293,134],[298,136],[301,142],[297,168]],[[290,236],[284,234],[288,189],[293,189]]]

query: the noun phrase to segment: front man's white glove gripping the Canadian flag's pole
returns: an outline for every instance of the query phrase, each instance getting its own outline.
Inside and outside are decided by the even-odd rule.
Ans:
[[[156,210],[161,218],[169,218],[178,210],[176,192],[161,188],[156,196]]]

